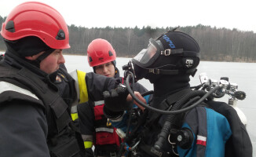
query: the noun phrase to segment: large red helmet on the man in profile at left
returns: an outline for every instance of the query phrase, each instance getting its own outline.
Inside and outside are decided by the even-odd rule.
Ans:
[[[41,38],[52,49],[68,49],[68,27],[60,13],[42,2],[24,2],[2,24],[3,38],[14,41],[27,36]]]

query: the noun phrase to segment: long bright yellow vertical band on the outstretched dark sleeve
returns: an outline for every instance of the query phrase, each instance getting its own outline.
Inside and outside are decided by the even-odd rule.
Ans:
[[[86,86],[86,72],[77,70],[77,77],[79,80],[79,104],[88,101],[88,93]]]

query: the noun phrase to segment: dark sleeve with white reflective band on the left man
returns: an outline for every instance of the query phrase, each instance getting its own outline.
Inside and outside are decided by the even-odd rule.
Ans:
[[[15,64],[14,60],[8,61]],[[15,79],[15,73],[27,75],[23,72],[27,69],[15,67],[5,61],[0,64],[0,155],[49,156],[45,105],[24,82]]]

